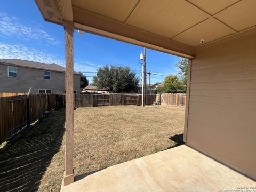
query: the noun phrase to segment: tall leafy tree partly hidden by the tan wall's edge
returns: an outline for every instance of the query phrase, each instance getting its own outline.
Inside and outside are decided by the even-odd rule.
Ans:
[[[188,79],[188,59],[182,58],[177,64],[178,76],[180,77],[183,85],[183,90],[186,91],[187,79]]]

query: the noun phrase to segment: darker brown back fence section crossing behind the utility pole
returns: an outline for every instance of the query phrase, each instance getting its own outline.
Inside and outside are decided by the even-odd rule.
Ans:
[[[146,95],[146,105],[156,102],[156,95]],[[76,94],[75,107],[141,105],[141,94]]]

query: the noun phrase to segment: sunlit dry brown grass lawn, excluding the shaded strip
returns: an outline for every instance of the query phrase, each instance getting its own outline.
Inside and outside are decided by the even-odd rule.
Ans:
[[[173,106],[78,108],[74,122],[75,175],[180,145],[184,116],[184,107]],[[39,191],[60,190],[64,153],[63,141],[41,180]]]

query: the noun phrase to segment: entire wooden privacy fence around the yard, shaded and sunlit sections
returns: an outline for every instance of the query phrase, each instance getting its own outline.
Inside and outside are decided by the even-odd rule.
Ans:
[[[146,105],[186,105],[186,94],[146,95]],[[141,105],[141,94],[74,94],[75,107]],[[0,143],[12,138],[47,111],[65,107],[65,95],[31,94],[0,97]]]

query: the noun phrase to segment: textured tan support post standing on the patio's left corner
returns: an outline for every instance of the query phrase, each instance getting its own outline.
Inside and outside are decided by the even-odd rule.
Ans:
[[[66,153],[65,172],[63,184],[68,185],[74,182],[73,170],[73,137],[74,137],[74,56],[73,56],[73,33],[74,28],[65,29],[65,59],[66,59]]]

